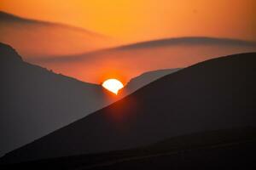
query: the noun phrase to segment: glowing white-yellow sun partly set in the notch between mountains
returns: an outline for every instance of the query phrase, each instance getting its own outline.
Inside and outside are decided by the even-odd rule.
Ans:
[[[102,87],[108,89],[110,92],[117,95],[119,89],[124,88],[124,85],[119,80],[111,78],[103,82]]]

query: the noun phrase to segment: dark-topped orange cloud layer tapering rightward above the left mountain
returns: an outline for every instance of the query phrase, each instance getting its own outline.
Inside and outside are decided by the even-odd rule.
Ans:
[[[116,44],[113,39],[92,31],[4,12],[0,12],[0,42],[17,48],[26,59],[81,54]]]

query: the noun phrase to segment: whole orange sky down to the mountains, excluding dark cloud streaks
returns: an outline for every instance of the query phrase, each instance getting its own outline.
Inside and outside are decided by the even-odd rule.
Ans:
[[[240,47],[232,43],[206,45],[195,41],[187,46],[154,47],[153,42],[151,48],[86,53],[109,48],[112,40],[114,46],[183,37],[256,42],[255,8],[256,0],[0,0],[3,12],[88,30],[84,34],[80,29],[67,31],[56,25],[17,20],[15,24],[5,20],[0,26],[0,40],[17,49],[27,62],[56,73],[84,82],[102,83],[117,77],[126,83],[145,71],[181,68],[224,54],[252,52],[256,43],[253,47]],[[91,31],[103,35],[101,47]],[[107,42],[105,36],[111,41]],[[55,62],[63,57],[64,60],[76,58],[77,54],[83,55],[82,60]],[[51,59],[44,62],[41,58]]]

